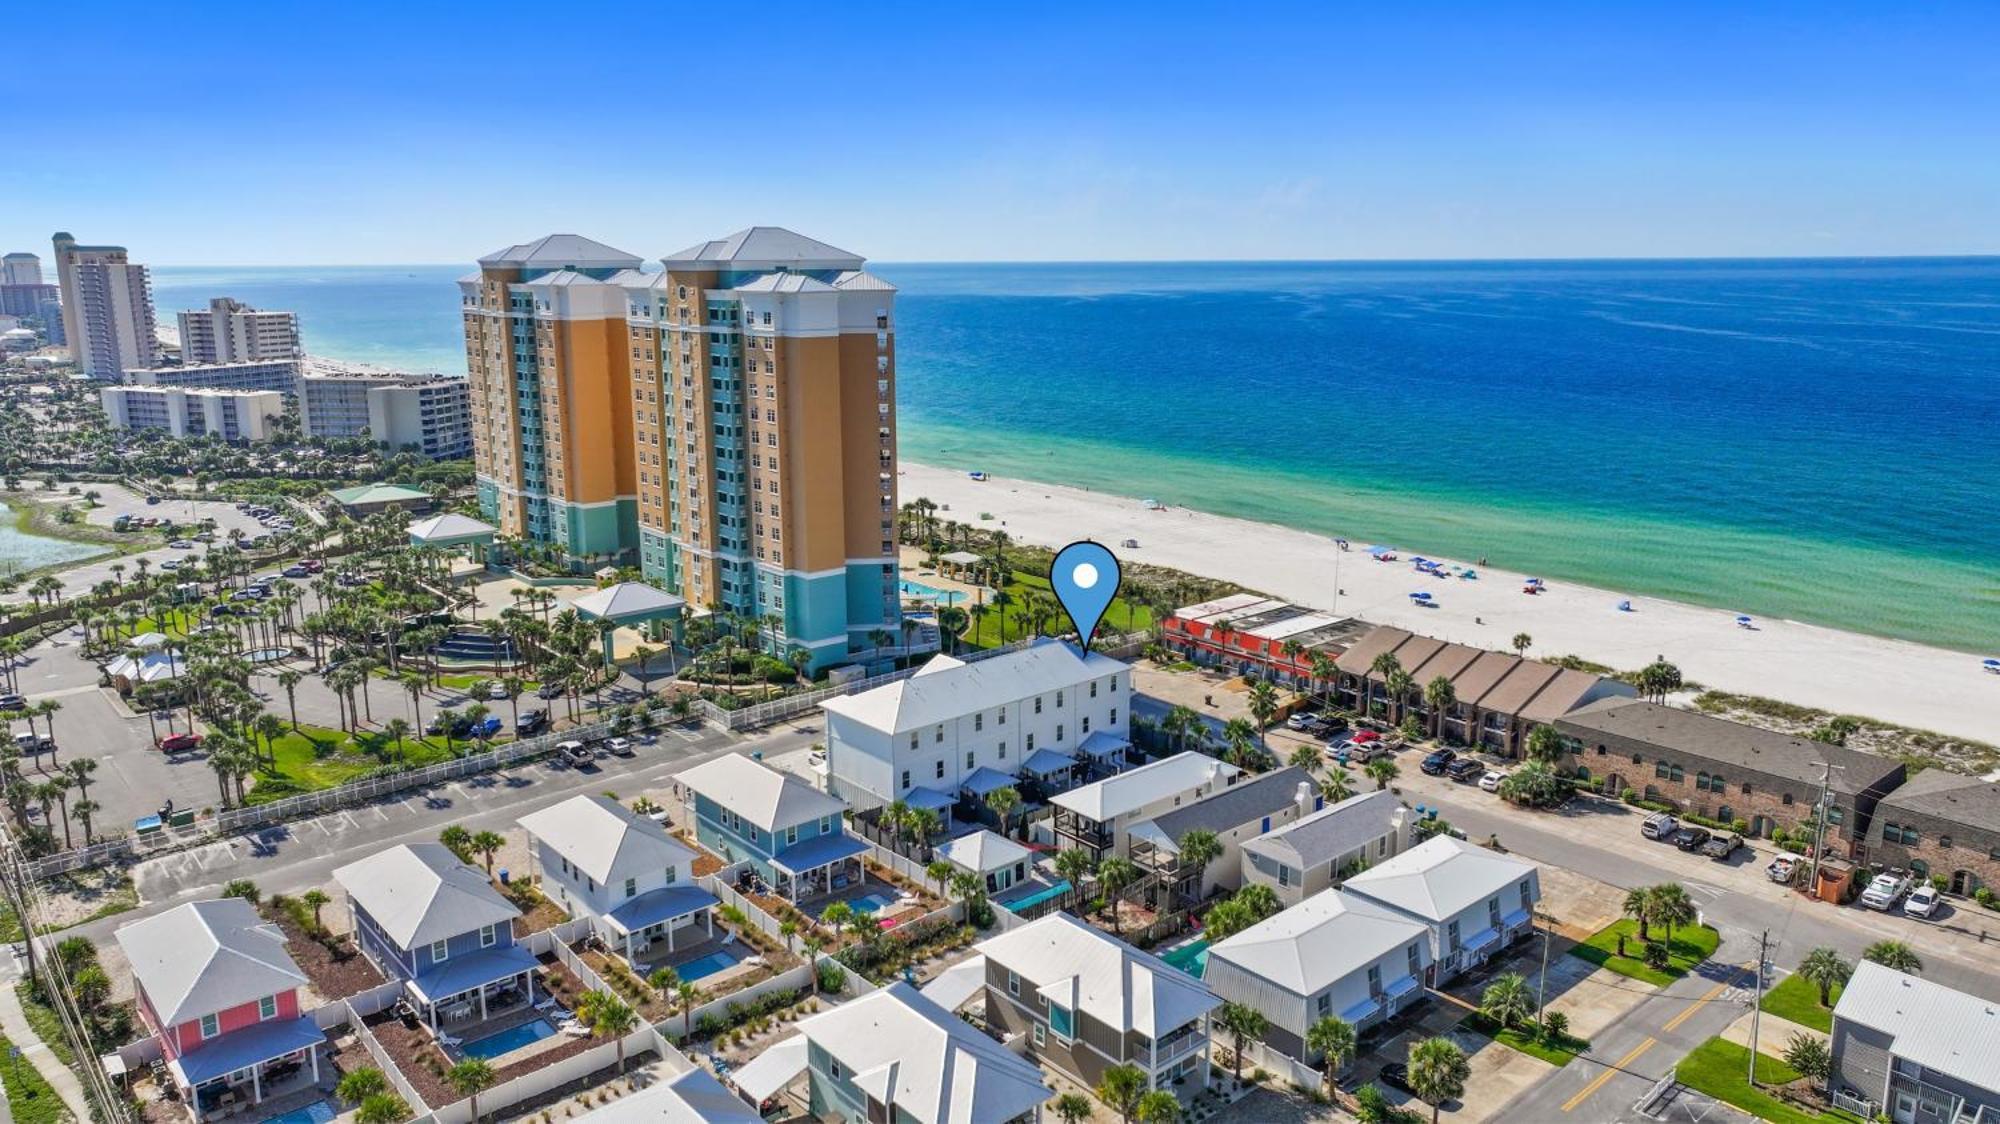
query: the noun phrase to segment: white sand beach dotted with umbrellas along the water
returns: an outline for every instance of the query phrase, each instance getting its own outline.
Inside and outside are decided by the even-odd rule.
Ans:
[[[1638,668],[1664,654],[1686,678],[1710,688],[2000,742],[2000,676],[1964,652],[1792,620],[1758,618],[1756,628],[1738,628],[1734,612],[1628,598],[1554,578],[1546,592],[1528,596],[1518,572],[1480,570],[1472,582],[1418,574],[1410,558],[1424,554],[1420,542],[1398,542],[1398,562],[1376,562],[1362,540],[1340,554],[1326,536],[1274,524],[1182,508],[1146,510],[1134,498],[1030,480],[976,482],[960,470],[924,464],[902,468],[902,502],[926,496],[950,504],[944,518],[982,528],[1004,522],[1020,542],[1060,546],[1096,538],[1118,550],[1118,542],[1134,538],[1138,550],[1118,550],[1120,558],[1238,582],[1374,624],[1484,648],[1506,648],[1516,632],[1526,632],[1534,638],[1530,656],[1574,654],[1614,668]],[[994,518],[980,520],[980,512]],[[1436,608],[1412,606],[1416,590],[1428,590]],[[1620,600],[1630,600],[1634,612],[1618,612]]]

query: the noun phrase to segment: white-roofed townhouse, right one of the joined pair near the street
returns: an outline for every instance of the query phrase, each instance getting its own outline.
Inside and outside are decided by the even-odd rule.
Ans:
[[[1438,986],[1534,930],[1542,874],[1522,858],[1432,836],[1340,890],[1424,922],[1432,958],[1426,986]]]

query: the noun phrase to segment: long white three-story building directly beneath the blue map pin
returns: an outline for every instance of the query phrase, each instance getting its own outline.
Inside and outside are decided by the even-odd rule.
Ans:
[[[984,660],[936,656],[914,676],[830,698],[826,788],[856,810],[938,808],[1014,784],[1046,800],[1124,766],[1132,668],[1062,640]]]

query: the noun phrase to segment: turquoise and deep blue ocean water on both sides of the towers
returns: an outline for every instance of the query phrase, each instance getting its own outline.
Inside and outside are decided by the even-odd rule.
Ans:
[[[874,268],[910,460],[2000,650],[2000,260]],[[456,372],[462,272],[156,296]]]

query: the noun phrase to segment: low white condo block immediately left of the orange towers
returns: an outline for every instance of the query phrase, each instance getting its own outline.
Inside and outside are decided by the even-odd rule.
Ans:
[[[298,424],[310,438],[366,434],[432,460],[470,456],[468,386],[442,374],[312,368],[298,378]]]

